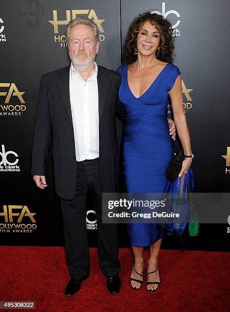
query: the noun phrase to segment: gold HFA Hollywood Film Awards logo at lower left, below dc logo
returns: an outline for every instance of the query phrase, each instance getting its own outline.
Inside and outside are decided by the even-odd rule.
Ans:
[[[25,205],[4,205],[0,212],[0,232],[33,232],[37,228],[35,215]]]

